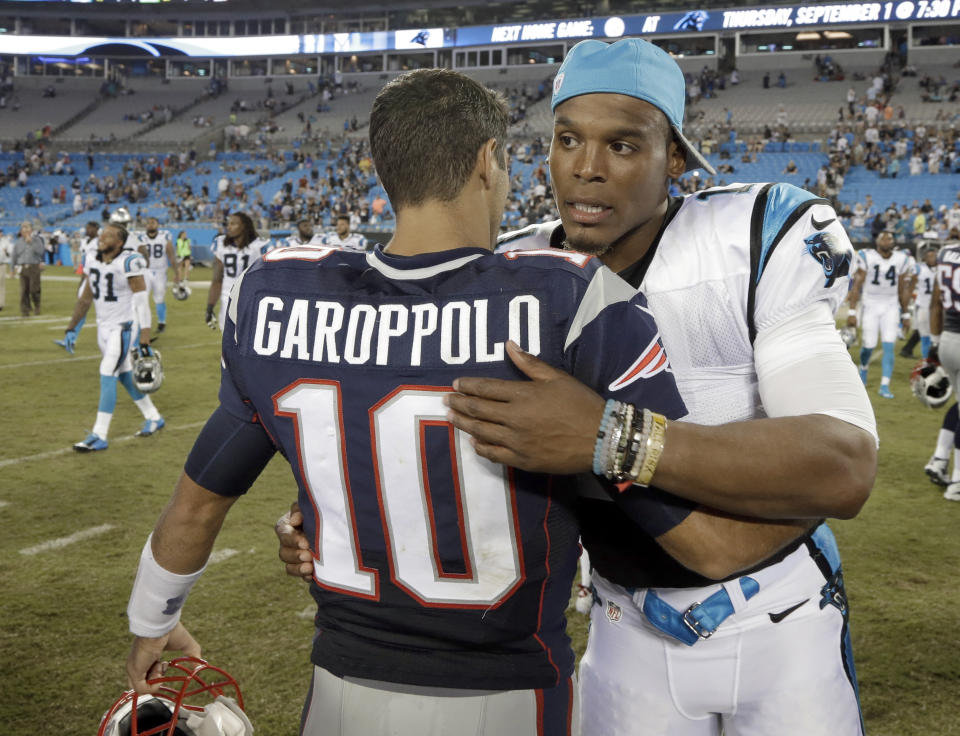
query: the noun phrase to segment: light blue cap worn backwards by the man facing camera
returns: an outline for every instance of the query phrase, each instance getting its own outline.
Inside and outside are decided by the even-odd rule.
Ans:
[[[663,49],[640,38],[616,43],[581,41],[567,54],[553,80],[551,109],[578,95],[609,93],[637,97],[663,111],[687,153],[687,171],[713,167],[683,135],[687,82]]]

